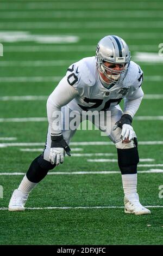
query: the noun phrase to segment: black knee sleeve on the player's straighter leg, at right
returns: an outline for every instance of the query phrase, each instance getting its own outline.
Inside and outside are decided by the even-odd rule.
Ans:
[[[128,148],[127,150],[117,148],[117,153],[121,174],[136,174],[137,164],[139,163],[137,147]]]

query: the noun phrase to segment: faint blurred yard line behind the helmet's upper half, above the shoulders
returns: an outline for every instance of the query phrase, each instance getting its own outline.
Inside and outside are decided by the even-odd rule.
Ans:
[[[158,45],[130,45],[131,51],[158,51]],[[12,45],[5,52],[95,52],[95,45]]]

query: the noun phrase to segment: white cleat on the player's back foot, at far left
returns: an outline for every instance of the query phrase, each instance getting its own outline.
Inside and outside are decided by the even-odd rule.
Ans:
[[[28,194],[15,189],[9,203],[9,211],[24,211]]]

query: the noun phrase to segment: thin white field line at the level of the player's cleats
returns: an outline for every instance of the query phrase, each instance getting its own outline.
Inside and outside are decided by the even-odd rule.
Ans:
[[[162,208],[162,205],[147,205],[147,208]],[[26,207],[26,210],[68,210],[68,209],[121,209],[124,206],[78,206],[78,207],[61,207],[61,206],[49,206],[49,207]],[[1,207],[0,210],[8,210],[8,207]]]

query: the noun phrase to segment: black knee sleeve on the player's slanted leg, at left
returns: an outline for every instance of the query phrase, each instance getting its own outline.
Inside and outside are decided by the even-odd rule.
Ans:
[[[36,157],[32,164],[30,164],[26,176],[29,181],[38,183],[47,175],[48,171],[52,170],[55,166],[55,164],[51,164],[43,159],[43,156],[40,154],[40,156]]]

